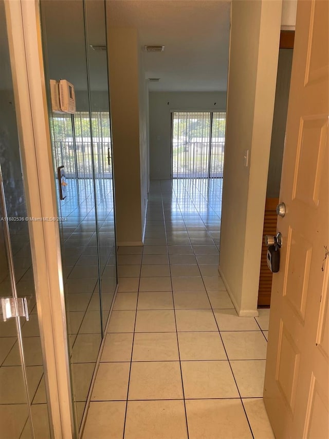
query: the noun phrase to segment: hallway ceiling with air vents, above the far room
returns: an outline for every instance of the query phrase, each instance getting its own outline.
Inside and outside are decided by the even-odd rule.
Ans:
[[[138,29],[145,78],[152,91],[225,91],[230,2],[223,0],[107,0],[108,25]]]

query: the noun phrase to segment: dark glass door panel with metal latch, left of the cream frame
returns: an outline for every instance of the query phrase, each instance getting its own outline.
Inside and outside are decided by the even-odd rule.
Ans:
[[[0,1],[0,437],[50,437],[5,7]],[[26,299],[26,317],[5,304]],[[5,311],[5,313],[4,313]],[[6,319],[6,321],[4,321]]]

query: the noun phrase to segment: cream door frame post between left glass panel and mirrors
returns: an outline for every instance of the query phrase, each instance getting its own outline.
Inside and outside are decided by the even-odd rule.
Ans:
[[[29,217],[57,218],[38,0],[5,0]],[[58,221],[29,221],[51,434],[74,437]]]

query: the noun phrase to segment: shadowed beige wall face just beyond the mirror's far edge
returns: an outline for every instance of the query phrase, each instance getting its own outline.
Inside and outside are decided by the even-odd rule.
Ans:
[[[107,13],[111,13],[107,9]],[[107,29],[118,245],[142,244],[137,30]]]

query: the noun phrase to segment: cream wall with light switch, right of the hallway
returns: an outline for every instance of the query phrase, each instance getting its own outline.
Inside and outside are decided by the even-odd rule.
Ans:
[[[239,315],[258,315],[281,8],[278,0],[232,1],[219,269]]]

